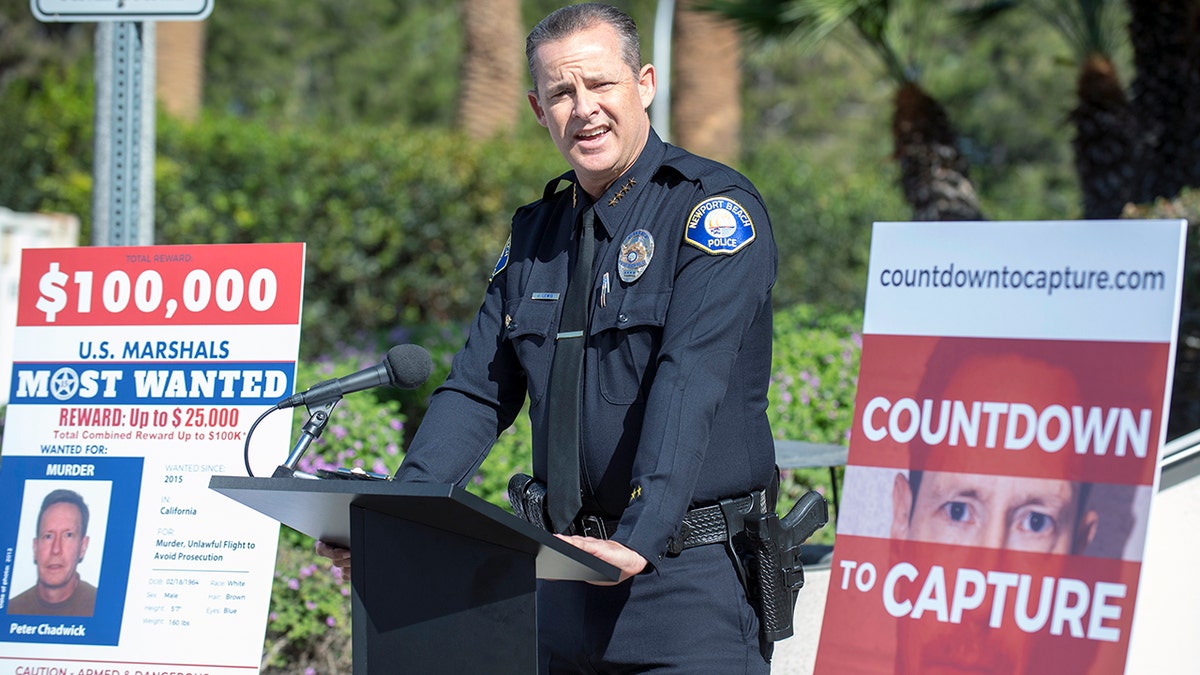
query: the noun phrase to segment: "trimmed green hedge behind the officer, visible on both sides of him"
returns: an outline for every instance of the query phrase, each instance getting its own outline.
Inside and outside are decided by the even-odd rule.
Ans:
[[[0,96],[0,205],[77,214],[80,243],[91,240],[91,79],[83,66],[48,71]],[[305,241],[310,358],[397,325],[466,322],[512,211],[565,168],[542,130],[516,136],[160,115],[155,240]],[[860,306],[870,223],[904,209],[892,169],[839,173],[803,148],[748,147],[738,168],[764,195],[780,250],[776,307]]]

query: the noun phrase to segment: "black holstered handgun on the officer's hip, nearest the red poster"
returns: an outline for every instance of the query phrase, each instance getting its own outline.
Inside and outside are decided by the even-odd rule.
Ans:
[[[829,520],[824,497],[809,490],[784,518],[766,500],[756,500],[749,512],[724,512],[726,526],[734,533],[728,545],[738,574],[758,611],[760,634],[767,641],[792,637],[796,598],[804,586],[800,544]]]

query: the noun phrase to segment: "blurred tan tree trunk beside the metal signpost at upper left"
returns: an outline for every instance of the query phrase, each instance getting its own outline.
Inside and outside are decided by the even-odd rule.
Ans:
[[[187,121],[200,117],[204,103],[205,22],[158,22],[155,25],[155,89],[167,113]]]

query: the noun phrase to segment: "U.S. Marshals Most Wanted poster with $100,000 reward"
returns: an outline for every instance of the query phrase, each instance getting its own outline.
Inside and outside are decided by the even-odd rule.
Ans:
[[[23,252],[0,674],[258,671],[278,524],[208,485],[293,390],[302,286],[304,244]]]

